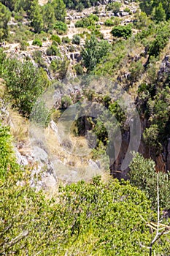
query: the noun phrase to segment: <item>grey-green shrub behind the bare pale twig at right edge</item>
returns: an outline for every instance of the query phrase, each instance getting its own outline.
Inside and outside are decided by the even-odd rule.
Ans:
[[[152,208],[157,208],[157,173],[155,162],[144,159],[139,153],[135,154],[130,165],[130,181],[133,186],[144,190],[152,202]],[[170,181],[166,173],[159,173],[160,207],[169,208]]]

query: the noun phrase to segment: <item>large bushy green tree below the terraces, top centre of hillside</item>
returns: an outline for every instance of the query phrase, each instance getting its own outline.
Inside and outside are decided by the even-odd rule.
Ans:
[[[82,49],[82,59],[85,67],[88,71],[93,70],[96,64],[107,55],[109,50],[109,43],[101,40],[98,42],[95,36],[91,36],[90,39],[86,39],[85,48]]]

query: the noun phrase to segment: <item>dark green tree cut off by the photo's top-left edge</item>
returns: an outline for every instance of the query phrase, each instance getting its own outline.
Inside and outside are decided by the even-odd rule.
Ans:
[[[0,42],[8,37],[8,22],[10,20],[10,12],[3,4],[0,3]]]

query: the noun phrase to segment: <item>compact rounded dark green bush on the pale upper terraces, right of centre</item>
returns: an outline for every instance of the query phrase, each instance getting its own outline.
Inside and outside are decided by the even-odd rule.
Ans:
[[[127,39],[128,37],[131,37],[132,34],[131,25],[115,26],[111,33],[113,37],[123,37]]]

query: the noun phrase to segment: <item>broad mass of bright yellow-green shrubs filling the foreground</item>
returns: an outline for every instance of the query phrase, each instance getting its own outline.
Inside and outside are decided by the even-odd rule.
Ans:
[[[0,167],[7,167],[0,180],[1,255],[148,254],[153,231],[143,219],[155,217],[144,192],[125,181],[95,177],[60,186],[49,200],[30,187],[31,171],[15,163],[9,129],[1,127],[0,140]],[[39,178],[34,176],[35,184]],[[169,236],[153,249],[169,253]]]

